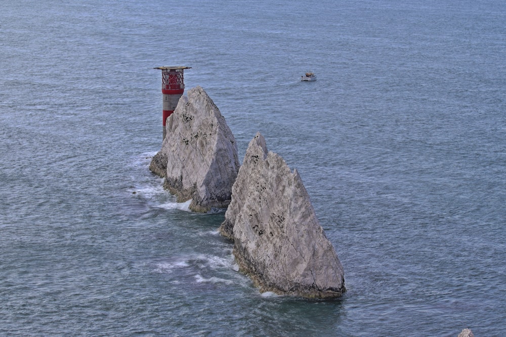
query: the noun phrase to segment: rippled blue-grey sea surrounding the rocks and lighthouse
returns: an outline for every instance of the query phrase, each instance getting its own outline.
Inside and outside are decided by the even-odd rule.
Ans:
[[[1,336],[504,335],[503,1],[3,0],[0,46]],[[342,298],[162,188],[159,66],[299,171]]]

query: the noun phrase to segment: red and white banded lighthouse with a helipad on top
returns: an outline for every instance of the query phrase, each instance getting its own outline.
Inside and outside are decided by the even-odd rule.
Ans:
[[[179,99],[185,92],[183,72],[191,67],[156,67],[161,70],[161,93],[163,94],[163,138],[167,133],[165,122],[172,115],[178,105]]]

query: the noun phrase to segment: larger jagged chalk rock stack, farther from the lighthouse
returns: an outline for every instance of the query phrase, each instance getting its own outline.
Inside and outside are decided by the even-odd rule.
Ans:
[[[260,133],[249,143],[220,232],[234,240],[239,268],[263,292],[326,298],[346,290],[299,173],[267,151]]]

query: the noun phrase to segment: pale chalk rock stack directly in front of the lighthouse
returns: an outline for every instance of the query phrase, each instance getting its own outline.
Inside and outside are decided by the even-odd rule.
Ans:
[[[150,170],[165,177],[163,186],[178,202],[192,199],[190,209],[195,212],[227,207],[240,166],[237,145],[225,118],[202,87],[181,97],[166,128]]]

